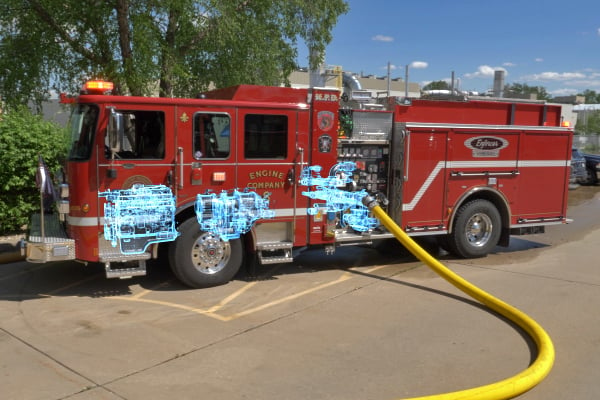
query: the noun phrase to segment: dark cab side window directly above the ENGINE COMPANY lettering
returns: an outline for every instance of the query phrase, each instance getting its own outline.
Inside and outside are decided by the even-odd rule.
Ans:
[[[248,114],[244,118],[244,157],[283,159],[287,157],[288,117]]]

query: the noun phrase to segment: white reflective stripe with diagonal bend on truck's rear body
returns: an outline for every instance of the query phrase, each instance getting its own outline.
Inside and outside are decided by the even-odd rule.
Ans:
[[[444,167],[444,164],[446,166]],[[425,195],[425,192],[429,189],[439,172],[444,168],[527,168],[527,167],[568,167],[570,161],[568,160],[526,160],[526,161],[445,161],[438,162],[425,182],[419,188],[419,191],[413,197],[410,203],[402,204],[402,211],[412,211],[419,204],[419,201]]]

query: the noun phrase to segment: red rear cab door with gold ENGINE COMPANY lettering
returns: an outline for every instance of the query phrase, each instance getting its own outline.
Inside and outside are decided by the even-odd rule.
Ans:
[[[275,217],[254,229],[261,249],[304,245],[306,203],[297,188],[300,174],[298,113],[295,109],[240,108],[237,126],[237,183],[269,199]],[[304,137],[304,135],[301,135]],[[302,204],[300,204],[301,202]],[[304,212],[298,212],[298,207]]]

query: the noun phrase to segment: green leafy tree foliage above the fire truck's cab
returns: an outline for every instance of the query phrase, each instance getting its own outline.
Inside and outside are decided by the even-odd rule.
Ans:
[[[161,96],[279,84],[298,42],[323,54],[347,10],[344,0],[4,0],[0,95],[22,104],[89,78]]]

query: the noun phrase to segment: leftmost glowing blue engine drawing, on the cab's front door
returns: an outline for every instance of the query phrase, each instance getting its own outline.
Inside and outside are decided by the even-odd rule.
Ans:
[[[143,253],[152,243],[175,240],[175,198],[164,185],[135,184],[99,192],[105,197],[104,238],[123,254]]]

